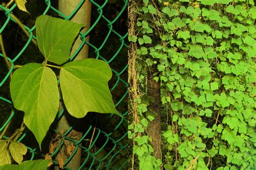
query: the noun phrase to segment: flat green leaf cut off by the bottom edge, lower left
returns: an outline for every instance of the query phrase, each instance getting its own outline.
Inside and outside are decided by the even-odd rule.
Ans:
[[[29,160],[24,161],[22,164],[19,165],[11,165],[5,164],[0,166],[0,170],[30,170],[30,169],[37,169],[37,170],[46,170],[49,164],[49,160]]]

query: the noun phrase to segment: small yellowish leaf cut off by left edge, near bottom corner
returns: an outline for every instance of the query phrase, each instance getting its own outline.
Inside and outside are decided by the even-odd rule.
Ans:
[[[7,147],[7,141],[0,140],[0,165],[11,164],[11,156]]]

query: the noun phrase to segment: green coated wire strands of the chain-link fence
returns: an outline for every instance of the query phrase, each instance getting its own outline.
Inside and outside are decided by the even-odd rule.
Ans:
[[[51,5],[51,1],[50,0],[45,0],[45,11],[42,13],[42,15],[45,15],[47,14],[50,10],[56,12],[59,16],[63,17],[64,19],[66,20],[69,20],[70,18],[72,18],[75,13],[78,11],[78,9],[80,8],[80,6],[82,6],[84,4],[85,0],[81,0],[79,2],[79,4],[76,6],[75,10],[73,10],[72,13],[70,13],[69,16],[65,16],[62,12],[58,11],[56,8],[54,8],[52,5]],[[71,56],[70,60],[73,60],[76,58],[77,54],[80,52],[80,50],[82,49],[82,47],[87,44],[89,45],[89,47],[91,49],[94,50],[95,54],[96,54],[96,59],[101,59],[101,60],[104,60],[106,61],[107,63],[114,63],[115,62],[115,59],[117,59],[118,57],[126,57],[126,56],[121,56],[120,55],[120,51],[124,48],[127,49],[127,45],[125,44],[125,39],[127,38],[128,36],[128,33],[126,33],[125,35],[120,35],[117,31],[113,30],[113,24],[115,22],[117,22],[117,20],[120,18],[120,16],[124,15],[124,11],[127,7],[127,3],[128,3],[128,0],[124,0],[122,1],[123,3],[123,8],[120,10],[120,12],[117,14],[116,17],[114,17],[114,19],[112,20],[109,20],[107,19],[104,15],[103,15],[103,10],[107,4],[107,0],[105,0],[105,2],[102,2],[102,5],[99,5],[98,3],[96,3],[95,1],[93,0],[90,0],[90,2],[92,3],[92,5],[95,5],[95,7],[97,8],[97,11],[92,11],[92,12],[98,12],[98,17],[97,19],[95,20],[95,22],[91,23],[91,27],[90,29],[85,32],[85,33],[82,33],[80,32],[79,33],[79,38],[82,40],[82,43],[80,44],[80,46],[76,49],[76,52]],[[120,3],[120,2],[118,2]],[[14,11],[14,9],[17,8],[17,5],[14,4],[10,7],[10,9],[6,9],[4,6],[0,5],[0,9],[2,11],[5,12],[5,16],[6,16],[6,20],[4,22],[4,24],[2,25],[2,27],[0,27],[0,34],[2,34],[4,31],[8,31],[6,28],[6,26],[8,26],[8,24],[10,22],[14,22],[16,23],[15,21],[15,18],[12,17],[11,13]],[[106,22],[106,25],[105,25],[105,28],[104,29],[107,29],[108,30],[108,33],[106,35],[106,37],[102,38],[101,40],[101,45],[96,47],[96,45],[93,45],[91,44],[90,42],[86,41],[86,37],[87,36],[90,36],[90,33],[92,32],[93,29],[96,29],[96,26],[97,24],[99,24],[100,20],[103,19],[104,22]],[[11,63],[11,67],[8,71],[8,73],[6,73],[6,75],[4,77],[0,77],[0,90],[2,90],[1,88],[3,87],[3,85],[5,83],[8,83],[8,79],[11,75],[11,73],[13,72],[14,70],[14,67],[15,67],[15,62],[17,60],[22,60],[20,59],[20,56],[24,53],[24,51],[26,50],[26,48],[28,48],[29,44],[32,43],[32,39],[36,39],[35,35],[33,35],[33,31],[35,30],[35,25],[31,28],[29,28],[28,26],[24,25],[25,29],[28,31],[29,33],[29,38],[28,38],[28,41],[26,41],[26,43],[24,44],[23,48],[21,49],[21,51],[19,51],[19,53],[14,57],[14,58],[9,58],[8,57],[8,60],[9,62]],[[113,54],[113,56],[111,56],[111,58],[109,59],[105,59],[104,58],[104,51],[102,51],[104,45],[106,44],[106,41],[110,38],[110,35],[111,34],[114,34],[115,36],[117,36],[119,38],[119,44],[120,46],[118,47],[117,51]],[[8,55],[8,54],[7,54]],[[2,53],[0,53],[0,61],[1,62],[4,62],[4,55]],[[119,64],[119,63],[118,63]],[[119,64],[120,65],[120,64]],[[126,72],[127,70],[127,65],[126,63],[123,63],[124,67],[123,69],[118,72],[117,70],[115,69],[112,69],[112,72],[113,72],[113,75],[116,76],[116,79],[115,79],[115,83],[114,85],[111,87],[111,93],[117,89],[117,87],[121,86],[123,88],[123,90],[125,91],[125,94],[120,94],[119,98],[120,100],[117,101],[115,103],[115,107],[117,107],[120,103],[122,102],[125,102],[125,98],[128,94],[128,90],[127,90],[127,87],[128,87],[128,84],[126,82],[126,80],[122,79],[122,75]],[[7,69],[7,67],[6,67]],[[6,85],[6,84],[5,84]],[[10,101],[10,98],[8,99],[8,97],[6,96],[1,96],[0,94],[0,100],[5,102],[6,104],[9,104],[9,107],[10,108],[13,108],[12,106],[12,102]],[[127,105],[127,104],[125,104]],[[55,119],[55,122],[58,122],[60,117],[62,117],[64,113],[64,110],[60,111],[59,114],[57,115],[56,119]],[[119,112],[123,117],[125,117],[127,115],[127,111],[126,112]],[[6,119],[6,121],[3,123],[3,124],[0,124],[0,133],[4,130],[4,128],[8,125],[8,123],[11,121],[11,119],[14,119],[16,115],[16,112],[15,111],[12,111],[10,116]],[[110,115],[109,116],[109,119],[113,118],[114,116],[113,115]],[[116,117],[114,117],[116,118]],[[83,142],[83,140],[85,138],[90,138],[91,136],[89,136],[89,134],[92,133],[93,131],[93,125],[90,125],[89,128],[87,128],[86,132],[83,134],[82,138],[80,138],[78,141],[77,140],[73,140],[71,139],[68,134],[72,131],[73,129],[73,126],[75,126],[76,124],[74,124],[73,126],[70,127],[70,129],[68,131],[66,131],[64,134],[61,134],[59,131],[55,130],[55,132],[59,133],[60,135],[63,136],[63,139],[62,139],[62,143],[61,145],[64,145],[64,140],[69,140],[73,143],[73,145],[75,146],[75,151],[72,153],[72,155],[68,158],[68,160],[66,160],[64,162],[64,167],[68,164],[68,162],[73,158],[73,155],[76,154],[76,151],[78,150],[78,147],[80,147],[82,149],[82,152],[84,153],[85,158],[82,160],[82,163],[81,163],[81,166],[79,167],[79,169],[84,169],[85,166],[86,168],[88,169],[94,169],[95,166],[96,166],[96,169],[99,169],[99,168],[102,168],[102,166],[104,166],[104,169],[123,169],[126,165],[127,165],[127,162],[128,162],[128,159],[126,161],[124,161],[124,163],[122,165],[120,165],[120,167],[118,168],[113,168],[111,167],[112,164],[113,164],[113,160],[114,159],[117,159],[119,157],[119,154],[124,151],[124,150],[127,150],[127,142],[122,142],[123,140],[125,140],[126,136],[127,136],[127,131],[124,131],[123,134],[119,134],[118,138],[116,136],[113,136],[113,133],[116,132],[120,126],[122,126],[122,124],[124,123],[127,123],[127,120],[125,118],[119,118],[120,121],[119,123],[116,124],[115,127],[112,128],[112,130],[110,132],[105,132],[103,130],[101,130],[100,128],[96,128],[95,129],[95,133],[94,133],[94,137],[93,137],[93,141],[91,142],[91,145],[90,147],[85,147],[85,146],[82,146],[81,143]],[[118,119],[118,120],[119,120]],[[109,120],[106,120],[105,123],[107,123]],[[102,139],[102,136],[104,136],[104,139]],[[23,135],[18,139],[18,141],[22,141],[24,138],[28,138],[29,137],[29,134],[28,134],[28,131],[25,131],[23,133]],[[4,136],[3,137],[4,139],[8,139],[9,137],[7,136]],[[97,148],[95,147],[95,144],[96,144],[96,141],[97,140],[105,140],[105,142],[103,142],[103,145],[100,147],[100,148]],[[108,153],[106,153],[104,155],[104,157],[98,157],[97,154],[99,154],[100,152],[103,151],[104,147],[111,143],[111,149],[108,150]],[[35,158],[36,155],[41,155],[42,158],[44,159],[44,156],[43,154],[41,154],[38,150],[38,148],[33,148],[33,147],[30,147],[30,146],[27,146],[28,147],[28,150],[29,150],[29,157],[30,157],[30,160],[33,160]],[[95,148],[97,148],[97,150],[95,150]],[[51,154],[51,157],[52,158],[55,158],[55,156],[58,154],[60,150],[60,147],[56,148],[55,152],[53,152]],[[55,160],[52,160],[52,162],[56,165],[58,165],[58,162],[55,161]],[[65,169],[68,169],[68,168],[65,168]]]

